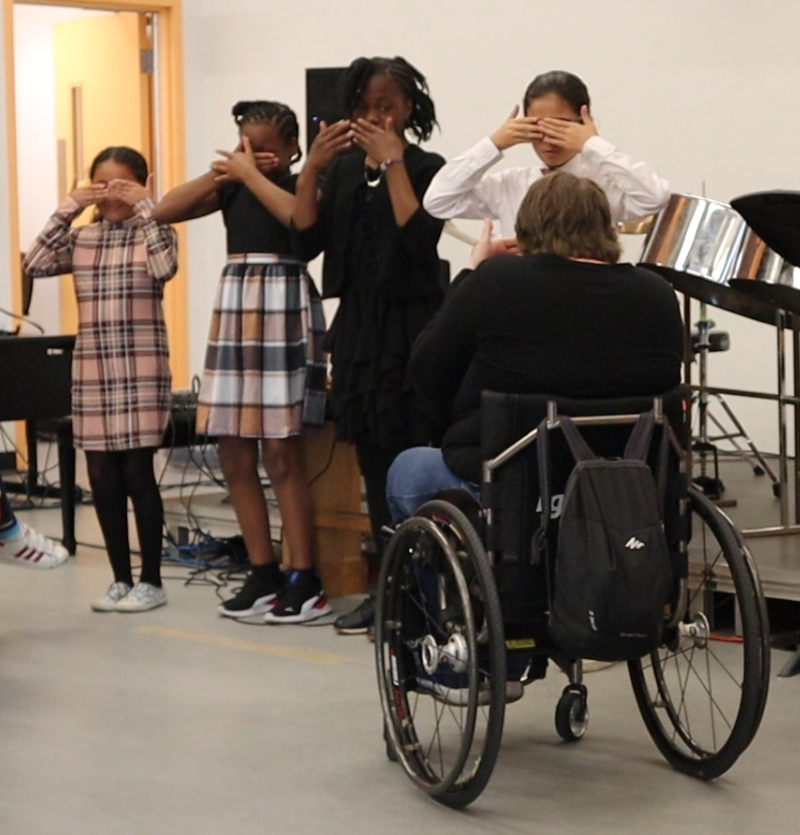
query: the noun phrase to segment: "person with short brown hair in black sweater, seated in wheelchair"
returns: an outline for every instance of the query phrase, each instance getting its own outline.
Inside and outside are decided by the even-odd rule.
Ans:
[[[575,399],[658,395],[680,383],[683,328],[660,276],[618,263],[608,200],[591,180],[553,173],[534,183],[517,217],[519,255],[486,222],[470,266],[417,339],[419,393],[452,416],[441,449],[401,453],[387,480],[395,523],[445,491],[480,497],[481,393]],[[528,665],[534,665],[527,670]],[[509,659],[508,701],[547,659]],[[516,683],[516,686],[513,686]]]

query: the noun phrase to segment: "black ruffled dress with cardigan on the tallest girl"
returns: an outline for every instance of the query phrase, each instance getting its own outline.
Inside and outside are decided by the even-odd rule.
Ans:
[[[421,203],[444,160],[415,145],[404,159]],[[331,416],[342,440],[386,450],[436,440],[437,416],[411,386],[407,365],[411,346],[442,302],[436,251],[442,225],[420,206],[399,227],[385,180],[368,184],[365,155],[356,151],[331,166],[317,224],[294,230],[301,258],[324,249],[322,295],[340,299],[325,347]]]

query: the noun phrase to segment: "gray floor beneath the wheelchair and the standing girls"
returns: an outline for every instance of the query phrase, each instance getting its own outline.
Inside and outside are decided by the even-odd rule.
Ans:
[[[58,534],[57,511],[22,515]],[[91,508],[78,538],[99,542]],[[565,680],[550,675],[509,707],[489,787],[457,813],[386,760],[363,637],[237,624],[212,588],[166,573],[167,607],[99,615],[101,551],[49,572],[0,566],[2,835],[797,831],[800,677],[773,679],[751,748],[704,784],[661,759],[623,666],[588,676],[589,733],[560,743]]]

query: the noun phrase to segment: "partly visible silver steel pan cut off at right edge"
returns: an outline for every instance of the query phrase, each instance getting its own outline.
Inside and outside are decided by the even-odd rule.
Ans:
[[[753,299],[800,313],[800,269],[770,249],[749,229],[739,252],[730,285]]]

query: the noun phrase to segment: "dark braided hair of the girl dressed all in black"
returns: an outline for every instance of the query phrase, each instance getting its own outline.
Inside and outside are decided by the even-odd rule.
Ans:
[[[417,141],[430,139],[438,126],[436,108],[428,92],[425,76],[405,58],[356,58],[344,77],[344,105],[348,113],[355,113],[369,80],[374,75],[391,78],[411,102],[411,115],[406,127]]]

